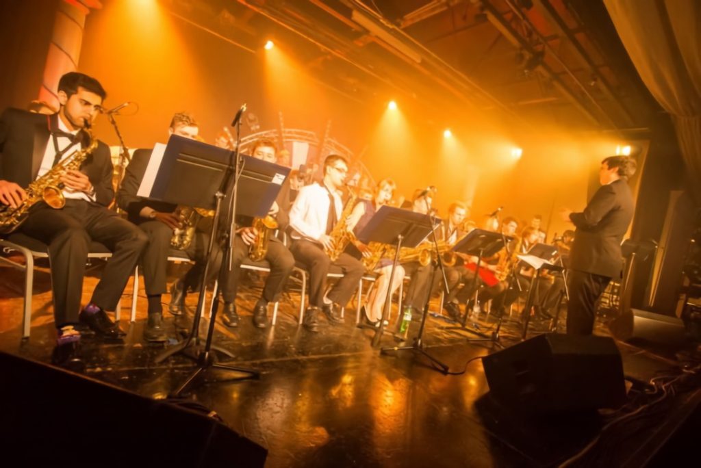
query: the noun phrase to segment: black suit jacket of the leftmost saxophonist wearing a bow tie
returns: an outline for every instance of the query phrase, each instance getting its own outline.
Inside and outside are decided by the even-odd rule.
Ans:
[[[0,116],[0,179],[15,182],[22,188],[36,179],[50,128],[57,128],[58,114],[46,116],[22,109],[8,108]],[[83,142],[83,146],[88,142]],[[95,187],[95,200],[107,206],[114,198],[112,188],[112,160],[109,148],[102,142],[81,165],[90,183]]]

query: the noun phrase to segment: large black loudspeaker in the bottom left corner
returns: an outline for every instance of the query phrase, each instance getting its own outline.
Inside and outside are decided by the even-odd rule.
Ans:
[[[0,446],[18,466],[265,463],[265,448],[204,413],[3,352],[0,372]]]

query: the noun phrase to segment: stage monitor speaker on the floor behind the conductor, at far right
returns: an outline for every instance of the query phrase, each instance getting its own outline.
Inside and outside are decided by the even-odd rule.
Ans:
[[[644,340],[662,345],[686,342],[681,319],[647,310],[628,309],[608,324],[611,334],[621,341]]]

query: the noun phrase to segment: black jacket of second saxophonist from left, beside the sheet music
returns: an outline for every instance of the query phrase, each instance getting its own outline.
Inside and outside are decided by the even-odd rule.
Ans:
[[[139,186],[144,179],[146,168],[151,159],[153,149],[137,149],[124,171],[124,178],[117,191],[117,205],[125,212],[132,223],[139,223],[144,219],[139,215],[144,207],[150,207],[157,212],[172,213],[177,205],[149,198],[137,196]]]

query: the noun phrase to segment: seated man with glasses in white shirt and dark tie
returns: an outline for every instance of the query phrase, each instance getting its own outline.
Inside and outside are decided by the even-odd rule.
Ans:
[[[353,296],[365,267],[350,254],[339,254],[334,265],[343,270],[343,277],[325,294],[327,274],[332,261],[327,252],[334,246],[331,234],[347,230],[346,219],[341,219],[343,202],[341,187],[348,174],[348,162],[343,156],[329,155],[324,160],[321,184],[314,183],[299,189],[290,210],[290,250],[294,259],[309,272],[309,308],[304,313],[303,325],[309,331],[318,331],[318,311],[329,322],[342,323],[340,308]],[[341,225],[336,228],[336,223]],[[334,229],[335,228],[335,229]]]

